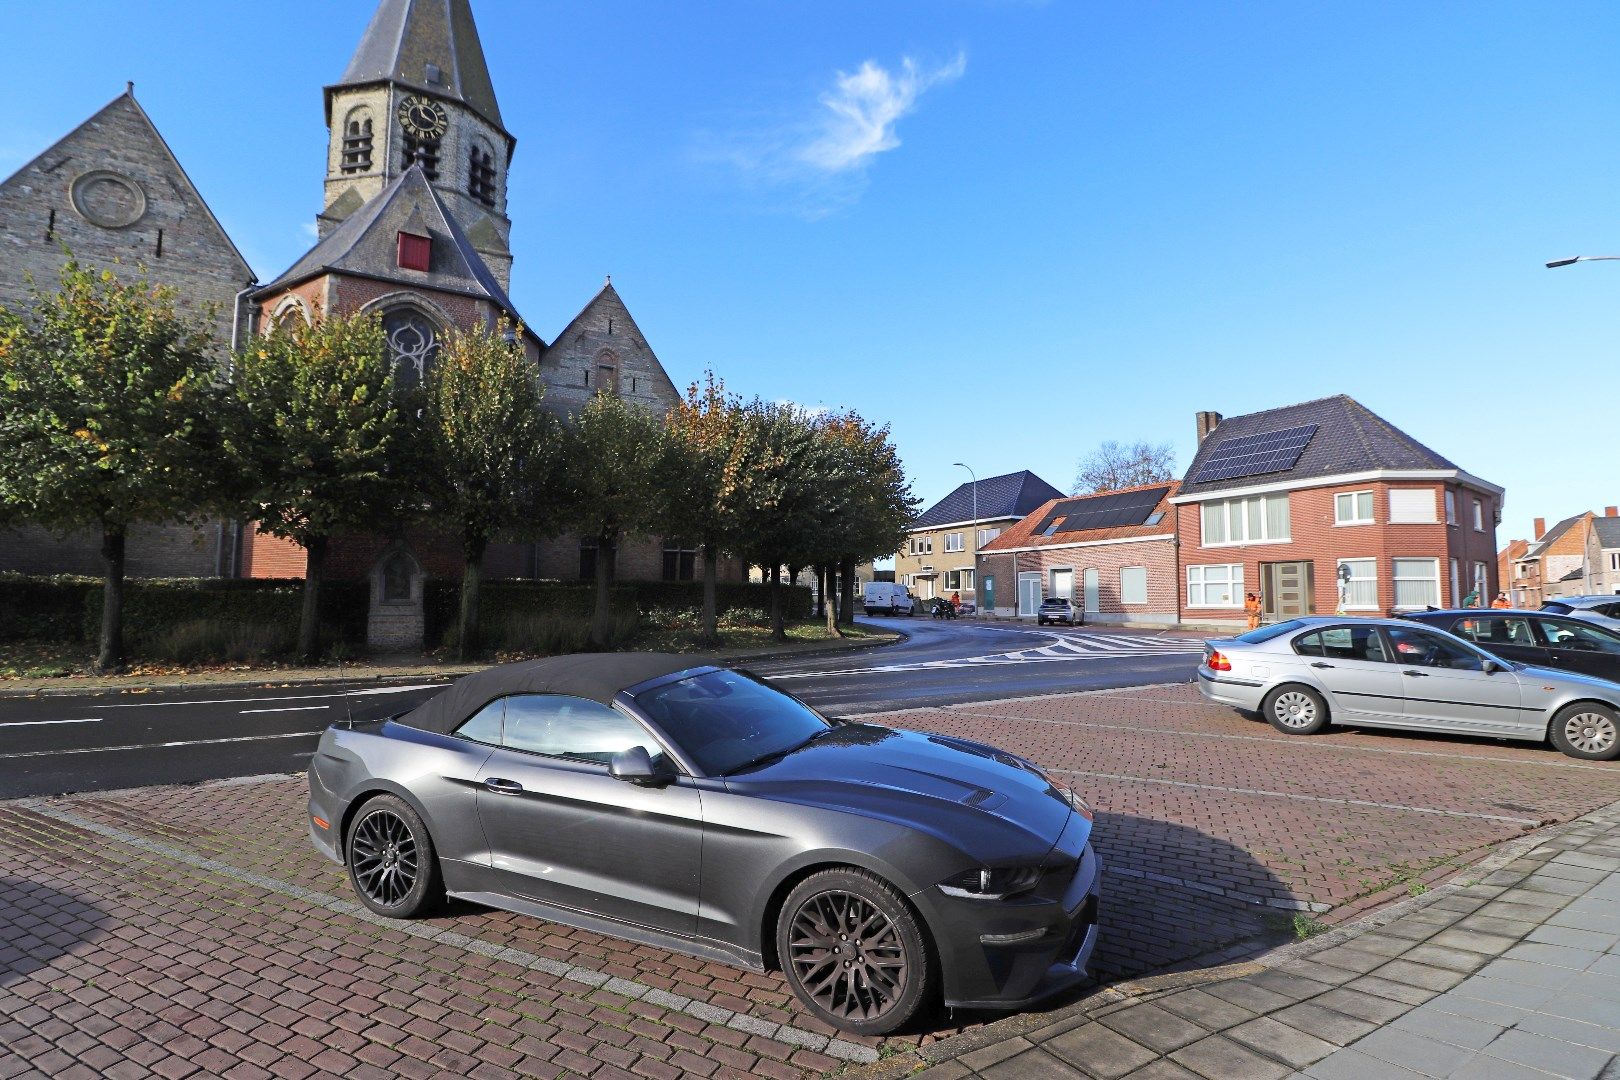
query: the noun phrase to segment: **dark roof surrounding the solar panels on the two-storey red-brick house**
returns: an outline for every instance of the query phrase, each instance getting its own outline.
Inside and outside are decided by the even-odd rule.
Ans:
[[[1238,476],[1231,479],[1192,483],[1205,461],[1228,439],[1259,436],[1286,427],[1315,424],[1315,434],[1306,444],[1294,466],[1280,473]],[[1371,411],[1346,393],[1268,408],[1246,416],[1228,416],[1199,445],[1192,465],[1181,481],[1181,495],[1200,495],[1212,491],[1249,487],[1278,479],[1309,479],[1338,473],[1364,473],[1371,470],[1455,470],[1456,463],[1435,453],[1405,431]]]

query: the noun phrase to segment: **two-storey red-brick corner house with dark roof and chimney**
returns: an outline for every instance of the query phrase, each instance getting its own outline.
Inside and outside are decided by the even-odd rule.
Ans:
[[[1456,606],[1497,591],[1502,487],[1346,397],[1221,418],[1171,497],[1181,622]]]

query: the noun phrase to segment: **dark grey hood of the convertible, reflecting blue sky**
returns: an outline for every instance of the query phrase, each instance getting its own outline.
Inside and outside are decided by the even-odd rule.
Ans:
[[[726,785],[907,824],[987,861],[1040,860],[1074,813],[1061,790],[1004,750],[870,724],[841,724]]]

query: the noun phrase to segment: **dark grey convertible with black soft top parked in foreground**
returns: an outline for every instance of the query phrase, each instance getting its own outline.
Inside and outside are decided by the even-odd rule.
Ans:
[[[570,656],[337,724],[309,831],[371,910],[446,894],[752,968],[878,1035],[1087,976],[1092,811],[980,743],[828,721],[692,657]]]

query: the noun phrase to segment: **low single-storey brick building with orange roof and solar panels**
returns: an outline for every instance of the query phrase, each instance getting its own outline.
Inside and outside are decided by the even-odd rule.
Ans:
[[[1174,507],[1179,486],[1144,484],[1043,502],[978,554],[978,581],[996,614],[1034,619],[1063,596],[1085,622],[1178,622]],[[1006,585],[1001,585],[1001,583]]]

